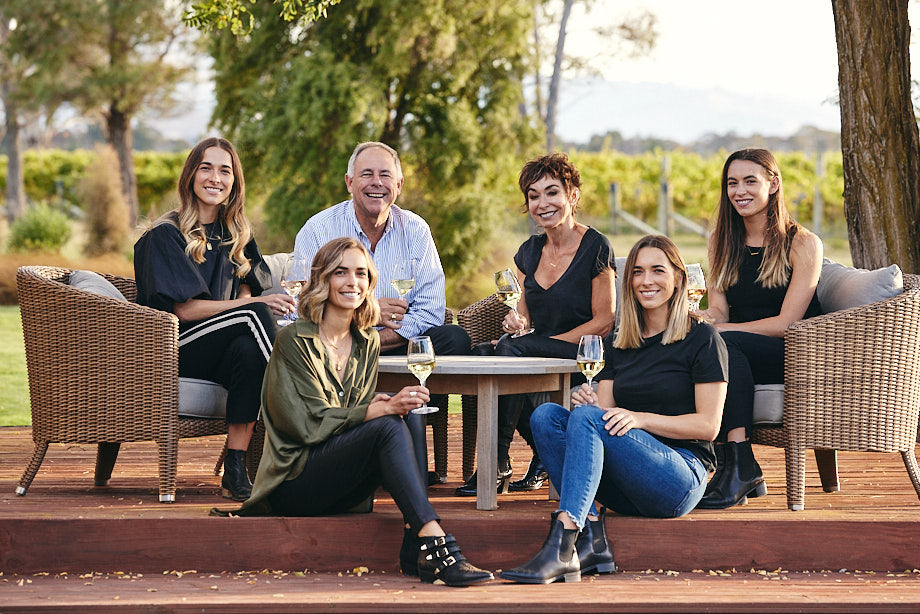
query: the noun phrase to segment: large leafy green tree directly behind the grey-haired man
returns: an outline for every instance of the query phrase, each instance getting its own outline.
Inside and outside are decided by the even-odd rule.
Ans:
[[[215,37],[214,121],[270,190],[270,226],[292,240],[345,197],[355,144],[382,140],[403,160],[400,205],[449,274],[470,271],[536,135],[519,112],[529,2],[355,0],[308,24],[252,11],[249,35]]]

